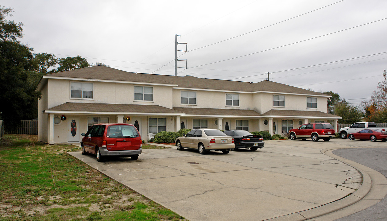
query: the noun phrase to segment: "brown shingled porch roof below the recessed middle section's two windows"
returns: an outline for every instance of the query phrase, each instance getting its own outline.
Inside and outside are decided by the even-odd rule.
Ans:
[[[215,116],[260,116],[253,110],[221,109],[221,108],[173,108],[186,115],[215,115]]]

